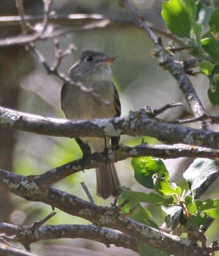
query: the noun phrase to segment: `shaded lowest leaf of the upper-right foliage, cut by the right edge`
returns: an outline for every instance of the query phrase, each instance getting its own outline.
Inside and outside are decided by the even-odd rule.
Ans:
[[[215,65],[209,75],[208,97],[214,106],[219,106],[219,65]]]

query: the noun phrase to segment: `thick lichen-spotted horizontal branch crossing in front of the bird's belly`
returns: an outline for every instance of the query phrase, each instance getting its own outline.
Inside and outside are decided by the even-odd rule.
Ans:
[[[219,148],[219,132],[200,131],[176,124],[167,124],[147,115],[144,109],[123,118],[94,120],[62,120],[43,118],[0,107],[0,125],[20,131],[49,136],[114,137],[150,136],[165,143],[184,143]]]

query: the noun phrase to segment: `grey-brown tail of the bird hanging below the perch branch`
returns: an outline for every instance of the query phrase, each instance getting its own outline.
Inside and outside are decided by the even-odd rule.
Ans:
[[[121,192],[119,178],[114,163],[96,168],[96,194],[104,199],[117,196]]]

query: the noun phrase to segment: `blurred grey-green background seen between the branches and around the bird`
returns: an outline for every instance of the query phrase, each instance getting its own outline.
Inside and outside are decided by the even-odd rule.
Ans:
[[[164,26],[160,16],[162,2],[154,0],[133,1],[146,19],[153,22],[158,28],[163,28]],[[206,3],[208,4],[208,1]],[[218,2],[215,1],[215,3]],[[26,0],[24,4],[26,14],[36,15],[43,12],[41,0]],[[114,20],[105,28],[79,30],[57,36],[61,48],[65,49],[69,44],[77,46],[76,52],[64,58],[59,68],[61,72],[66,73],[73,62],[79,58],[80,52],[87,49],[104,52],[107,56],[117,56],[116,61],[112,64],[112,74],[120,95],[123,116],[127,115],[131,109],[137,110],[145,106],[151,106],[151,108],[155,109],[174,101],[183,102],[184,106],[166,111],[159,117],[166,121],[190,117],[190,109],[183,99],[176,81],[168,72],[158,67],[158,59],[151,56],[154,48],[151,40],[149,40],[144,31],[131,24],[132,15],[119,6],[119,1],[54,0],[52,9],[57,14],[62,15],[99,13],[106,18]],[[1,1],[0,15],[17,15],[15,1]],[[54,26],[71,29],[80,25],[81,22],[84,21],[76,20],[75,23],[66,22],[65,24],[56,21]],[[1,38],[19,34],[20,26],[0,26]],[[163,37],[164,44],[167,44],[168,41]],[[55,60],[53,39],[37,42],[36,48],[42,52],[50,65],[52,65]],[[185,60],[187,57],[186,52],[176,56],[179,60]],[[62,82],[57,77],[47,75],[35,56],[26,51],[25,47],[1,48],[0,60],[1,106],[18,109],[26,113],[65,118],[60,102]],[[204,108],[211,115],[216,114],[218,109],[213,108],[208,100],[207,90],[209,84],[206,77],[200,75],[191,77],[191,80]],[[196,124],[191,125],[197,128]],[[215,127],[215,129],[218,129],[218,127]],[[68,138],[40,136],[27,132],[2,129],[1,127],[0,134],[0,168],[11,172],[23,175],[40,174],[82,156],[75,141]],[[131,138],[123,136],[121,143],[138,145],[141,140],[142,137]],[[159,143],[153,138],[144,138],[144,140],[151,144]],[[185,184],[182,173],[190,163],[192,163],[192,159],[184,158],[165,161],[173,182],[177,182],[181,186]],[[130,187],[135,191],[146,191],[135,182],[130,159],[117,163],[116,168],[123,186]],[[87,170],[85,173],[71,175],[54,184],[54,186],[87,200],[86,194],[80,186],[80,182],[85,182],[96,204],[110,205],[112,198],[102,200],[96,197],[96,179],[94,175],[94,170]],[[202,198],[208,198],[209,196],[213,198],[216,197],[217,193],[218,190],[213,184],[208,193]],[[161,225],[162,211],[158,211],[157,208],[153,208],[151,205],[146,205],[146,207],[152,212],[153,220]],[[3,209],[3,211],[0,211],[0,221],[10,222],[15,225],[33,223],[33,221],[42,219],[52,211],[49,205],[27,202],[17,196],[9,195],[5,191],[0,193],[0,209]],[[88,223],[80,218],[64,214],[57,209],[56,212],[56,216],[48,222],[49,224]],[[216,228],[212,228],[211,234],[209,234],[211,241],[216,239],[216,233]],[[50,244],[53,244],[53,246]],[[54,244],[59,244],[59,246]],[[74,255],[93,255],[92,251],[99,251],[101,252],[100,255],[135,255],[129,250],[123,250],[115,246],[106,248],[103,244],[83,239],[46,241],[33,244],[32,247],[33,252],[40,252],[40,255],[60,255],[63,251],[60,248],[64,248],[65,255],[72,255],[72,252],[75,253]],[[88,253],[86,250],[91,251]],[[94,253],[99,255],[97,252]]]

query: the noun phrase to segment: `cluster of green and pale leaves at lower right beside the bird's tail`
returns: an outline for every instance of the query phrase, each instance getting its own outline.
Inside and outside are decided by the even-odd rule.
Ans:
[[[151,157],[139,157],[132,159],[132,166],[135,171],[135,179],[140,185],[147,189],[153,189],[155,193],[142,193],[123,188],[119,197],[119,204],[123,205],[121,212],[139,221],[158,228],[153,220],[153,214],[149,212],[142,203],[153,204],[156,207],[162,206],[165,216],[163,222],[165,227],[174,225],[174,216],[179,214],[180,223],[188,230],[194,225],[197,229],[203,225],[208,217],[219,218],[219,199],[196,200],[195,190],[201,186],[208,177],[219,171],[219,166],[210,159],[196,159],[186,170],[183,177],[188,185],[187,191],[175,183],[170,182],[169,172],[161,159]],[[137,243],[140,255],[165,255],[160,250],[151,248],[146,243]]]

